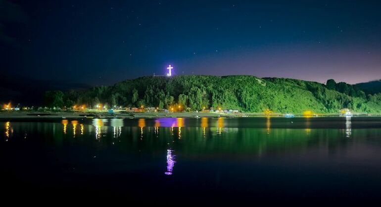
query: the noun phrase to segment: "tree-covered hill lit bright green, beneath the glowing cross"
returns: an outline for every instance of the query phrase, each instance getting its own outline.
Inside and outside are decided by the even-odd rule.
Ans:
[[[213,106],[250,112],[272,109],[274,112],[302,113],[313,110],[336,113],[341,108],[350,108],[355,112],[381,113],[381,94],[366,96],[364,92],[352,88],[345,91],[347,93],[340,93],[334,84],[328,87],[311,81],[248,75],[149,76],[108,87],[70,91],[62,99],[54,98],[61,95],[50,92],[46,100],[48,106],[86,104],[91,107],[101,103],[109,107],[144,105],[168,108],[180,104],[191,110]]]

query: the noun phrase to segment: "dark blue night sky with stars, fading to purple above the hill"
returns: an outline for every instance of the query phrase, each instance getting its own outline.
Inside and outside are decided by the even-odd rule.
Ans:
[[[0,0],[1,70],[108,85],[143,75],[381,78],[381,3]]]

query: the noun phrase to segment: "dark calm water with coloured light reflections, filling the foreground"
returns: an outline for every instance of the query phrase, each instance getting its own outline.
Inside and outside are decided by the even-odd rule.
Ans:
[[[364,204],[381,195],[381,118],[0,124],[2,198]]]

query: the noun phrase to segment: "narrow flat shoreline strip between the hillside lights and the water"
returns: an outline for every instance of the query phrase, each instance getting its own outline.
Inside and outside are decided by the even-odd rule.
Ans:
[[[100,116],[97,116],[100,114]],[[139,119],[139,118],[240,118],[240,117],[279,117],[284,118],[282,113],[272,113],[266,115],[264,113],[211,113],[211,112],[134,112],[128,113],[114,113],[110,114],[107,112],[38,112],[38,111],[2,111],[0,112],[0,120],[4,119],[93,119],[93,118],[123,118],[123,119]],[[303,116],[303,114],[295,114],[296,118],[299,117],[342,117],[338,114],[318,114],[317,117],[313,116]],[[354,114],[353,117],[380,117],[380,114],[367,115],[367,114]]]

